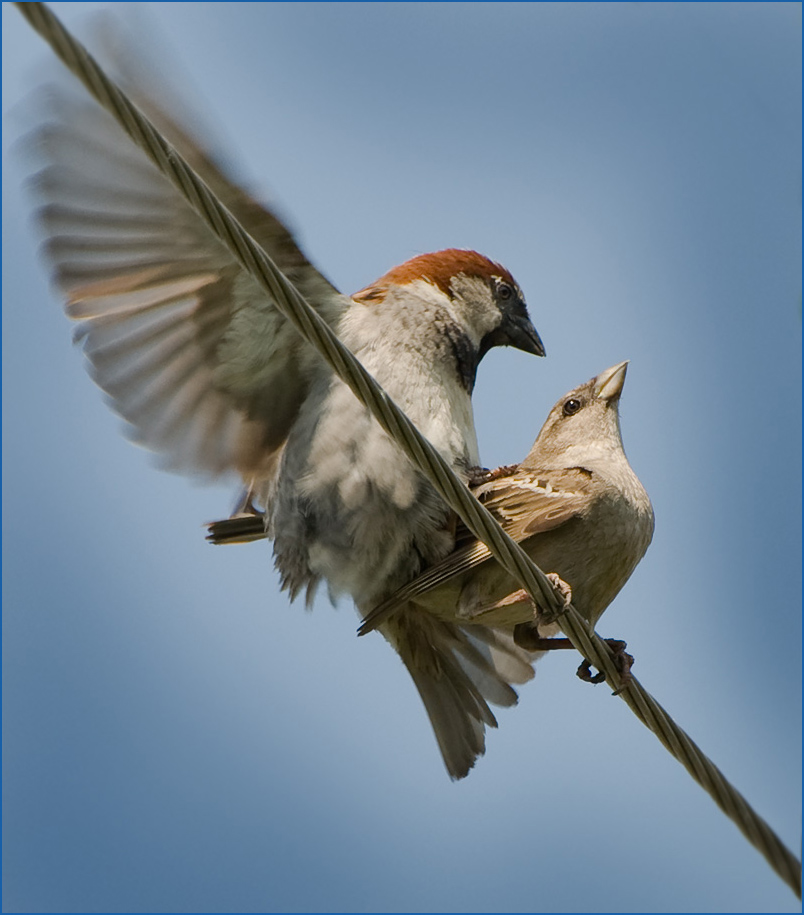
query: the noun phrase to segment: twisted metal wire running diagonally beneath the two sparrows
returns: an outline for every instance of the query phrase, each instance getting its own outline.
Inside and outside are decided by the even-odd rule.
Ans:
[[[125,94],[104,74],[96,61],[64,28],[44,3],[16,3],[30,25],[48,42],[90,94],[115,118],[201,216],[233,257],[270,295],[276,307],[313,345],[358,400],[430,480],[447,504],[492,551],[498,562],[520,583],[540,607],[559,615],[563,611],[544,573],[500,527],[489,511],[471,495],[449,465],[418,432],[361,363],[338,340],[332,329],[305,302],[268,255],[217,200],[179,153],[160,135]],[[570,606],[561,628],[572,644],[605,673],[631,711],[658,737],[690,775],[765,857],[774,871],[801,898],[801,862],[784,845],[695,742],[642,687],[636,678],[621,681],[609,646]]]

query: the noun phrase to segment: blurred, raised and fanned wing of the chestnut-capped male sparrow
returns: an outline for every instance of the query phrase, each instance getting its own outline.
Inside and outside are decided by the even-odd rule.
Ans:
[[[165,111],[127,87],[319,314],[343,296],[291,233]],[[161,96],[160,96],[161,97]],[[267,476],[317,357],[183,198],[84,91],[48,92],[38,225],[91,373],[170,469]]]

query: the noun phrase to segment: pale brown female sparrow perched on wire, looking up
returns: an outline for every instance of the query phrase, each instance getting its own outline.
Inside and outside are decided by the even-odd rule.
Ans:
[[[539,568],[569,585],[573,605],[592,626],[653,536],[650,499],[628,463],[620,435],[618,404],[627,365],[612,366],[562,397],[525,460],[492,471],[474,488]],[[492,634],[519,636],[536,617],[530,596],[485,544],[464,531],[449,556],[376,607],[359,632],[395,621],[405,627],[411,619],[424,618],[456,635],[483,633],[480,637],[488,640]],[[540,625],[537,635],[558,631],[557,623]],[[522,633],[517,644],[530,647],[527,635]],[[532,644],[547,647],[540,641]],[[422,696],[428,705],[423,691]],[[461,770],[444,725],[432,713],[431,720],[447,768],[458,777]],[[450,727],[455,728],[454,722]]]

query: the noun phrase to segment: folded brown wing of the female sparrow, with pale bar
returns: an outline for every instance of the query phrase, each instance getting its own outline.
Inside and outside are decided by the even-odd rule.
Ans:
[[[509,537],[521,543],[579,515],[588,505],[588,486],[589,472],[582,468],[517,471],[484,483],[474,490],[474,495],[497,518]],[[363,620],[358,634],[371,632],[404,604],[490,559],[491,550],[481,540],[472,538],[375,607]]]

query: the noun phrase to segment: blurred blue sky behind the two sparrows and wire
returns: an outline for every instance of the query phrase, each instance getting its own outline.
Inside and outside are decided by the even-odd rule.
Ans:
[[[85,33],[105,5],[53,6]],[[799,911],[576,658],[452,784],[348,602],[306,613],[266,545],[204,542],[234,487],[119,434],[49,292],[6,155],[48,52],[2,13],[4,909]],[[548,358],[484,360],[487,465],[631,360],[656,535],[598,631],[798,850],[801,5],[132,15],[341,289],[448,246],[512,271]]]

